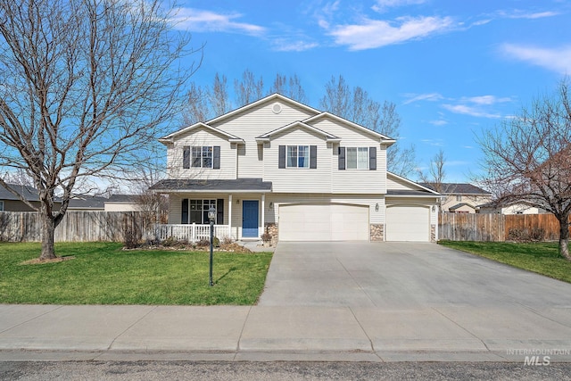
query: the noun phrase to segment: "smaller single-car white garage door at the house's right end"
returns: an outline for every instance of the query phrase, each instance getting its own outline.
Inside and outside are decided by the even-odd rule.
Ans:
[[[430,208],[423,206],[386,206],[387,241],[430,241]]]

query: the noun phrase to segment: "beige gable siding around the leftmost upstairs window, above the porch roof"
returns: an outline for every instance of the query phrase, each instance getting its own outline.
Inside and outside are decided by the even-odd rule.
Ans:
[[[219,145],[220,169],[183,169],[184,146]],[[207,128],[196,128],[169,145],[167,170],[170,178],[234,179],[236,178],[236,143],[228,142],[228,137],[213,133]],[[191,158],[192,162],[192,158]]]

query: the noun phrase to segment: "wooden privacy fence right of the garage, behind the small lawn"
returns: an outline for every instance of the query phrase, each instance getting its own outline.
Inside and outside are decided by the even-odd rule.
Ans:
[[[559,222],[552,214],[440,213],[438,239],[555,241],[559,239]]]

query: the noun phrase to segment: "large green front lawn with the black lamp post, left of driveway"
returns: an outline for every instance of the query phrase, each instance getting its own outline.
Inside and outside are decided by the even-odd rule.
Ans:
[[[23,264],[40,244],[0,244],[0,303],[251,305],[271,253],[123,251],[116,243],[56,244],[57,263]]]

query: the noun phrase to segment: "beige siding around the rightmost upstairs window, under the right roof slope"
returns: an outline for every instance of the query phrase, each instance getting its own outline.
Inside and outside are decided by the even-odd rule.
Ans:
[[[333,145],[331,151],[331,192],[343,193],[386,193],[386,147],[367,131],[341,125],[336,120],[323,118],[313,126],[341,137],[341,143]],[[377,147],[377,170],[339,170],[338,147]]]

